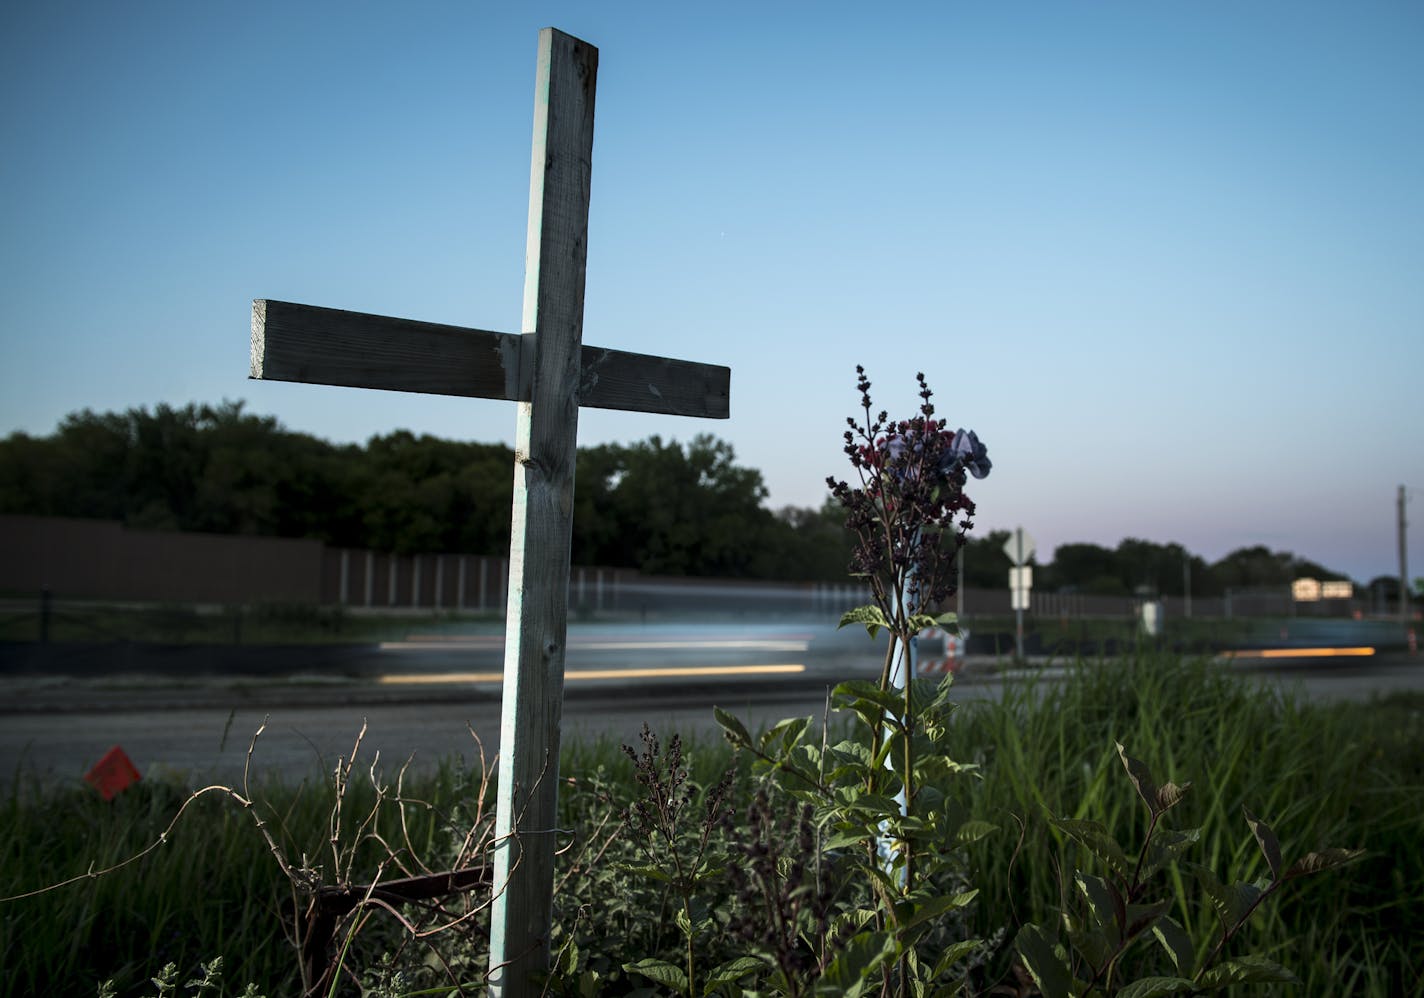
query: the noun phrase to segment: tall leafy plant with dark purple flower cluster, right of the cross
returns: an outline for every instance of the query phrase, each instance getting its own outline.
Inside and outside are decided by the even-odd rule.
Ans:
[[[870,380],[856,370],[863,416],[847,420],[844,450],[857,484],[827,484],[857,538],[852,571],[874,599],[846,614],[842,626],[863,625],[871,638],[887,632],[880,678],[833,690],[830,708],[852,719],[850,736],[836,745],[807,742],[809,718],[753,739],[736,718],[716,712],[756,772],[807,809],[820,833],[817,863],[833,857],[837,890],[817,888],[815,905],[799,904],[803,864],[776,871],[753,864],[768,918],[780,927],[763,940],[763,955],[786,994],[800,994],[799,974],[807,970],[842,994],[874,987],[918,994],[943,987],[980,948],[947,935],[963,925],[953,914],[975,895],[960,850],[991,829],[970,823],[956,802],[958,777],[973,766],[956,763],[944,747],[948,681],[913,678],[910,642],[931,624],[954,628],[953,614],[931,611],[953,592],[950,569],[971,525],[964,483],[968,474],[988,474],[990,460],[973,431],[951,431],[934,417],[924,374],[917,376],[918,413],[891,423],[884,411],[873,414]],[[789,927],[800,923],[826,927],[819,940],[807,935],[807,948],[820,954],[813,967],[790,958]]]

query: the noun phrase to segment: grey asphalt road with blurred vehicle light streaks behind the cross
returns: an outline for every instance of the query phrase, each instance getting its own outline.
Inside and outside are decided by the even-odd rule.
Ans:
[[[414,635],[384,646],[342,676],[120,676],[0,682],[0,783],[16,777],[77,780],[120,745],[152,777],[191,786],[236,784],[251,750],[253,779],[325,779],[349,756],[393,773],[463,757],[493,760],[500,740],[498,635]],[[1051,662],[1034,663],[1061,675]],[[1245,659],[1222,668],[1297,686],[1313,698],[1366,699],[1424,690],[1424,656]],[[820,715],[826,693],[879,671],[860,635],[826,636],[796,625],[655,626],[618,632],[572,628],[567,651],[562,736],[635,743],[655,730],[718,737],[712,706],[749,726]],[[1027,671],[971,659],[956,686],[960,700],[998,695]]]

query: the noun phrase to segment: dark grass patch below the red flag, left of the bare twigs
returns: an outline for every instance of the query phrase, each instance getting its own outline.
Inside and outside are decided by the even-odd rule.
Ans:
[[[302,789],[283,796],[290,824],[315,819]],[[112,803],[87,787],[11,789],[0,807],[0,894],[121,863],[155,841],[185,797],[152,780]],[[251,820],[215,797],[198,800],[138,863],[0,907],[3,991],[93,995],[105,977],[131,987],[168,961],[191,967],[216,952],[235,975],[281,981],[290,958],[265,941],[283,887]]]

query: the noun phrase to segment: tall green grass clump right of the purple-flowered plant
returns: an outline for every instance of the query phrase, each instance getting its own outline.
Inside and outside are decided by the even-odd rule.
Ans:
[[[1052,923],[1059,877],[1072,864],[1091,868],[1049,830],[1049,813],[1141,841],[1146,813],[1116,760],[1121,742],[1159,780],[1192,783],[1173,827],[1202,829],[1188,858],[1219,877],[1265,873],[1243,806],[1272,823],[1287,861],[1324,846],[1370,850],[1260,913],[1242,940],[1246,951],[1296,971],[1304,994],[1418,994],[1421,718],[1424,696],[1317,705],[1171,655],[1079,661],[1064,682],[1015,685],[1000,703],[965,708],[954,750],[984,765],[967,803],[1004,829],[975,857],[980,928]],[[1178,874],[1173,887],[1173,914],[1195,938],[1209,938],[1215,920],[1195,881]],[[1357,984],[1340,991],[1346,978]]]

